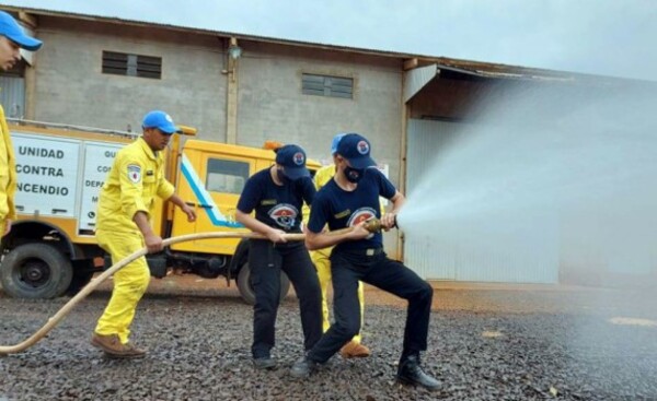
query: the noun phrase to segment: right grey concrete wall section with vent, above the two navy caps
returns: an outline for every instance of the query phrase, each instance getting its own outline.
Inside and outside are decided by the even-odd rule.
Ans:
[[[399,184],[402,135],[401,61],[323,49],[241,42],[238,143],[297,143],[330,161],[338,132],[359,132]],[[303,73],[354,79],[354,98],[304,95]]]

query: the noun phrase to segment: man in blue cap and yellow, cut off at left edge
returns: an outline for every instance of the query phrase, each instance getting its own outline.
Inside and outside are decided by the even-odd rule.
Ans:
[[[21,61],[21,48],[36,51],[42,45],[41,40],[25,35],[13,16],[0,11],[0,70],[9,71]],[[16,162],[2,106],[0,130],[0,236],[5,236],[11,231],[11,223],[16,220]]]

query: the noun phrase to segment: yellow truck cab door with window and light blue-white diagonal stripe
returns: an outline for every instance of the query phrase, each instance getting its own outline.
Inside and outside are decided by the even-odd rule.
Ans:
[[[175,209],[172,236],[206,232],[249,232],[235,222],[235,207],[246,179],[254,173],[253,158],[233,154],[185,150],[178,174],[178,196],[194,204],[196,223]],[[172,246],[174,250],[233,255],[239,238],[204,239]]]

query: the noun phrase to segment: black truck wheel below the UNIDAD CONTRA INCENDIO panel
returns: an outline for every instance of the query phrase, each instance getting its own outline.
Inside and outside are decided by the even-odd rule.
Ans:
[[[2,288],[16,298],[61,296],[69,287],[72,276],[70,260],[46,244],[15,247],[0,266]]]

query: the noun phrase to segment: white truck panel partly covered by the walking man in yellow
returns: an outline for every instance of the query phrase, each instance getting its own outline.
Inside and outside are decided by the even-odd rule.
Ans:
[[[84,146],[84,175],[82,177],[82,200],[78,219],[78,229],[95,228],[99,194],[112,168],[120,144],[87,143]]]

